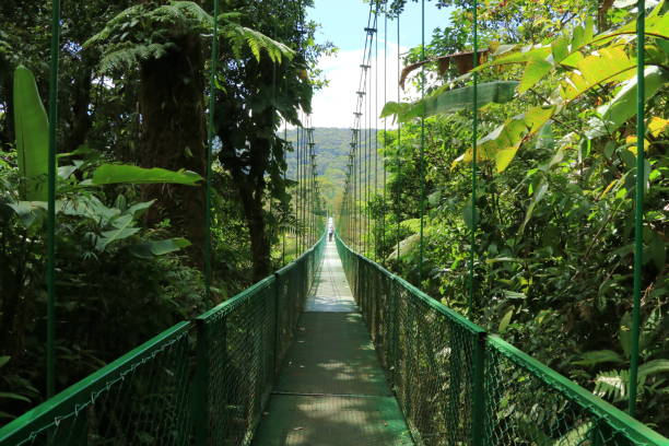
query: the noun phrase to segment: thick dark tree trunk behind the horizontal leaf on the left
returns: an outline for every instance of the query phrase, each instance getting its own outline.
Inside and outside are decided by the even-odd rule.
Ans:
[[[142,167],[186,168],[206,174],[203,60],[200,37],[185,36],[177,49],[141,66],[140,114]],[[191,259],[201,265],[204,240],[204,190],[180,185],[148,185],[144,200],[156,199],[150,224],[169,219],[192,243]]]

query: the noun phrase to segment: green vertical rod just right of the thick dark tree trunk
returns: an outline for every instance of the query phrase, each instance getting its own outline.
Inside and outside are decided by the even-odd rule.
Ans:
[[[207,126],[207,174],[204,188],[204,293],[211,302],[211,162],[213,156],[214,114],[216,106],[216,69],[219,62],[219,0],[213,2],[213,36],[211,37],[211,72],[209,73],[209,125]]]

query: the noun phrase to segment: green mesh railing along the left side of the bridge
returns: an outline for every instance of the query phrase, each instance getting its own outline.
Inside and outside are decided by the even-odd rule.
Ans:
[[[7,424],[0,446],[249,444],[324,246]]]

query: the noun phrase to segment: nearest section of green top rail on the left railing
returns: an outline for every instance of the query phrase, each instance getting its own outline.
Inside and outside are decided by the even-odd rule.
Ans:
[[[58,424],[59,420],[77,415],[107,388],[124,379],[124,377],[154,357],[167,347],[181,339],[192,327],[189,321],[179,322],[161,332],[138,348],[124,354],[116,361],[105,365],[97,372],[73,384],[63,391],[28,410],[23,415],[0,429],[0,445],[15,445],[21,438]]]

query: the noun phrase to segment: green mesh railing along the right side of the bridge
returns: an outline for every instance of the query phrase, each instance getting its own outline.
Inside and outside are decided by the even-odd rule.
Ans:
[[[669,445],[339,237],[337,248],[418,445]]]

